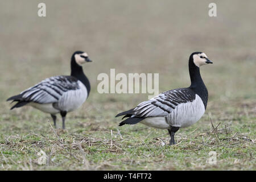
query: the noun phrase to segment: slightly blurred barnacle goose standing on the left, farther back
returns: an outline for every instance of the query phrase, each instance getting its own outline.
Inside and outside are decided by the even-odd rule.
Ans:
[[[62,127],[65,129],[66,114],[80,107],[89,96],[90,82],[82,71],[82,64],[85,62],[91,62],[87,53],[76,51],[71,57],[71,76],[46,78],[39,84],[8,98],[7,101],[17,101],[11,109],[24,105],[35,107],[51,114],[55,127],[56,114],[60,113]]]

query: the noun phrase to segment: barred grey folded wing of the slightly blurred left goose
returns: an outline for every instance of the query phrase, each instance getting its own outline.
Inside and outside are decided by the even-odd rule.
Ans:
[[[72,76],[54,76],[46,78],[39,84],[24,90],[20,101],[49,104],[60,100],[61,96],[69,90],[79,89],[77,78]]]

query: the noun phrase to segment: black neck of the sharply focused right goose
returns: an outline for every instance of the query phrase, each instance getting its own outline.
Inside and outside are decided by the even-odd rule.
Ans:
[[[192,58],[191,58],[192,59]],[[193,59],[189,59],[189,75],[191,79],[191,85],[189,86],[199,97],[201,97],[204,107],[207,107],[208,91],[204,85],[204,81],[200,75],[200,69],[193,63]]]

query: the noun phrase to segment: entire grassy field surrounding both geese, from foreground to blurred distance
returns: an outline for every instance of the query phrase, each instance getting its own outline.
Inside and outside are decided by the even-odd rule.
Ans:
[[[40,1],[1,1],[0,170],[255,170],[256,2],[215,1],[213,18],[210,2],[44,1],[40,18]],[[77,50],[93,60],[84,65],[92,91],[67,115],[67,130],[32,107],[9,110],[8,97],[69,75]],[[176,133],[178,144],[168,146],[166,130],[118,127],[114,116],[147,94],[99,94],[97,75],[159,73],[159,92],[185,87],[194,51],[213,61],[201,68],[209,101],[199,122]]]

